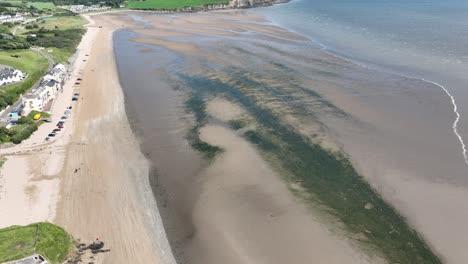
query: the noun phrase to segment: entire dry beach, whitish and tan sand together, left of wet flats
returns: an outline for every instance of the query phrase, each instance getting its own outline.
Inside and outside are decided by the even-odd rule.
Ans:
[[[116,25],[91,17],[73,65],[44,124],[18,146],[4,148],[0,226],[50,221],[75,239],[104,241],[110,252],[94,263],[173,263],[148,183],[148,164],[124,111],[112,33]],[[76,78],[83,78],[74,86]],[[72,118],[61,135],[44,138],[71,105]],[[161,238],[161,239],[158,239]],[[89,259],[91,261],[91,259]]]

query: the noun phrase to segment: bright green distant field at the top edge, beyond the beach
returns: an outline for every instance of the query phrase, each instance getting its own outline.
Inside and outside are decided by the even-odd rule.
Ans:
[[[127,7],[134,9],[173,9],[186,6],[203,6],[208,4],[227,3],[228,0],[144,0],[128,1]]]

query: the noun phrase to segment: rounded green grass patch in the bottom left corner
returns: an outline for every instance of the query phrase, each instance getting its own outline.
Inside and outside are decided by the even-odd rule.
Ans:
[[[0,263],[39,253],[51,263],[62,263],[73,249],[72,237],[50,223],[0,229]]]

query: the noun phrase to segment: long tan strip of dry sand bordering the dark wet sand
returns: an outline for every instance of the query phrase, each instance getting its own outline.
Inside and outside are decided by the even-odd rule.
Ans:
[[[76,238],[105,241],[112,251],[96,263],[172,263],[160,243],[165,235],[148,164],[125,114],[112,48],[118,26],[106,18],[96,17],[102,29],[89,28],[98,32],[82,74],[56,222]]]

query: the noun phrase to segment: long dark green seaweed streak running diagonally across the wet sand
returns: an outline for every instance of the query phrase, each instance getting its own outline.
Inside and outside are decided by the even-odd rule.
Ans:
[[[363,179],[342,153],[330,152],[302,136],[242,91],[249,81],[226,84],[199,76],[179,75],[191,88],[187,108],[197,125],[189,134],[192,146],[213,158],[221,149],[202,142],[198,130],[206,122],[204,100],[224,96],[239,103],[258,122],[259,128],[245,133],[270,162],[281,167],[289,179],[300,182],[313,194],[311,202],[328,208],[327,213],[342,223],[365,248],[384,256],[389,263],[441,263],[426,242],[398,212]],[[255,88],[255,87],[253,87]],[[371,203],[372,209],[365,209]]]

